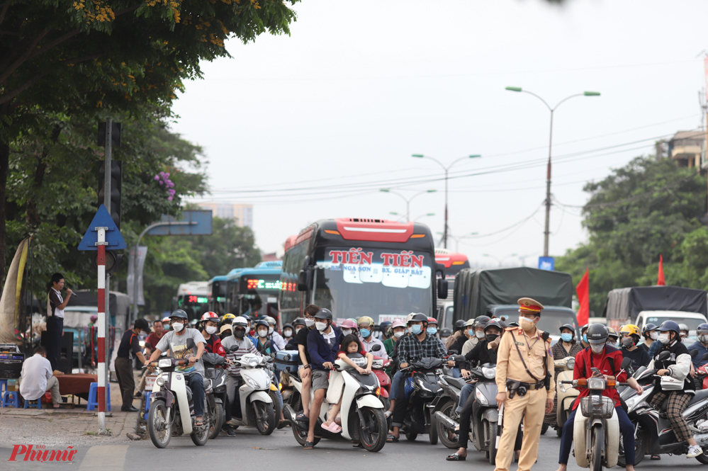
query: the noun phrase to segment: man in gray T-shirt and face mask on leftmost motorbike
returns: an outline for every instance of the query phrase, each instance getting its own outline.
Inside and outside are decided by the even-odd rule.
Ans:
[[[163,351],[169,351],[169,355],[173,358],[188,358],[189,365],[180,366],[174,370],[178,373],[183,373],[187,385],[192,390],[194,401],[194,426],[203,426],[204,415],[204,363],[202,355],[204,354],[204,336],[197,329],[189,329],[187,324],[187,314],[181,309],[178,309],[169,316],[169,322],[172,326],[167,334],[162,336],[162,339],[157,342],[150,360],[145,362],[149,366],[153,361],[157,361]],[[187,348],[187,339],[194,341],[193,348]],[[182,411],[182,415],[185,412]],[[186,419],[186,417],[185,417]],[[184,420],[184,419],[183,419]]]

